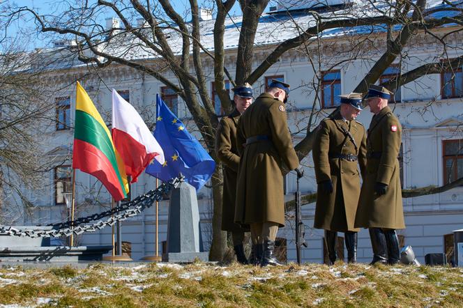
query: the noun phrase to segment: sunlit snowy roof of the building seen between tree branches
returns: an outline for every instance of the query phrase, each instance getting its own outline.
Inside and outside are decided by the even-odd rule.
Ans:
[[[293,0],[294,1],[294,0]],[[301,1],[301,0],[298,0]],[[392,16],[393,6],[386,1],[375,1],[374,7],[372,2],[368,0],[320,0],[330,1],[336,5],[347,3],[348,6],[342,8],[338,7],[337,10],[319,10],[317,16],[324,20],[342,20],[349,18],[360,18],[360,17],[377,17],[377,16]],[[310,4],[313,6],[313,0],[302,0],[302,4]],[[455,1],[459,3],[459,7],[463,8],[462,1]],[[441,0],[429,0],[427,1],[427,10],[435,10],[438,8],[449,7],[448,4],[443,3]],[[259,24],[257,26],[257,33],[255,36],[255,45],[273,45],[282,43],[284,40],[294,38],[298,34],[302,33],[311,26],[317,24],[314,14],[309,11],[301,11],[302,6],[294,6],[289,10],[284,10],[283,13],[270,12],[265,13],[260,17]],[[452,17],[458,15],[460,12],[452,10],[443,10],[436,13],[432,13],[427,18],[441,19],[442,17]],[[214,49],[213,41],[213,30],[215,20],[205,20],[200,22],[201,30],[201,43],[204,48],[212,51]],[[225,33],[224,33],[224,47],[225,49],[236,49],[238,47],[238,41],[240,36],[240,29],[242,24],[242,16],[227,17],[225,20]],[[191,24],[187,24],[191,26]],[[399,26],[395,26],[395,29],[400,29]],[[335,28],[328,29],[321,33],[322,38],[329,38],[334,36],[347,36],[347,35],[358,35],[366,34],[371,32],[384,32],[386,26],[368,25],[368,26],[354,26],[348,28]],[[182,42],[181,35],[175,29],[168,30],[167,37],[170,47],[174,54],[181,54]],[[153,41],[153,40],[151,40]],[[119,32],[112,36],[110,40],[100,43],[99,48],[112,54],[114,56],[122,56],[124,59],[136,60],[136,59],[155,59],[159,55],[156,54],[153,49],[147,47],[146,44],[142,43],[138,38],[134,38],[128,33]],[[61,50],[61,49],[52,49]],[[47,49],[49,53],[51,49]],[[89,50],[86,51],[91,54]],[[45,53],[45,51],[44,51]],[[59,63],[53,63],[50,68],[70,68],[82,66],[82,63],[75,58],[67,58]]]

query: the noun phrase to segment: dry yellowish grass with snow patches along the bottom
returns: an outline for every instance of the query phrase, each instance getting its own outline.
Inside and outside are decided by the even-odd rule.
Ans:
[[[462,307],[463,268],[95,263],[0,269],[0,307],[70,306]]]

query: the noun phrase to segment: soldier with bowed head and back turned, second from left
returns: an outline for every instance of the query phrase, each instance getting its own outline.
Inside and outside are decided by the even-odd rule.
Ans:
[[[235,222],[250,224],[261,266],[281,265],[273,250],[278,227],[284,226],[283,172],[299,165],[284,108],[288,95],[289,84],[273,79],[238,122]]]

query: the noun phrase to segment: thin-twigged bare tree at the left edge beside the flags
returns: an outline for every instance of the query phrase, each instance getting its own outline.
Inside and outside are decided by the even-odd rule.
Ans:
[[[24,192],[48,188],[45,178],[59,164],[56,157],[44,159],[42,150],[55,103],[40,99],[50,96],[36,62],[40,52],[26,53],[20,36],[14,40],[0,40],[0,224],[15,224],[27,213],[33,203]]]

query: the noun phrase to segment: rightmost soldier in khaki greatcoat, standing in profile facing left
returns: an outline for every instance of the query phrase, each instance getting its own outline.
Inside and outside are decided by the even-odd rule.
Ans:
[[[382,86],[370,85],[366,96],[374,116],[367,133],[367,175],[360,191],[355,226],[370,229],[372,263],[399,262],[395,229],[405,228],[397,160],[402,127],[388,107],[392,94]]]

